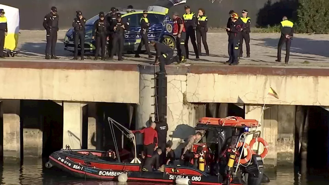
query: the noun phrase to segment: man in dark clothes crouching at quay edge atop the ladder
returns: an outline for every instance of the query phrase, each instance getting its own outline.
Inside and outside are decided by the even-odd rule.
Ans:
[[[155,57],[155,64],[160,64],[160,72],[165,72],[165,65],[169,65],[177,61],[176,57],[173,57],[174,50],[164,43],[156,42],[154,40],[151,40],[150,43],[152,46],[154,46],[157,53]]]

